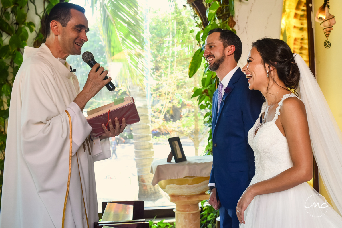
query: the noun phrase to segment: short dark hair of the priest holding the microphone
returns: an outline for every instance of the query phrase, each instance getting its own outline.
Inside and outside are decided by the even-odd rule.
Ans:
[[[50,35],[50,23],[52,20],[55,20],[61,23],[62,27],[66,27],[69,20],[71,19],[70,9],[74,9],[80,11],[82,13],[86,12],[86,10],[79,5],[69,3],[69,2],[61,2],[52,7],[48,17],[45,20],[45,34],[46,38]]]

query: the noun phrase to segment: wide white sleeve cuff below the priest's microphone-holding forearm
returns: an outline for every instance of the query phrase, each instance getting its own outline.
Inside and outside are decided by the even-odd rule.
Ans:
[[[74,155],[93,128],[88,124],[86,117],[84,117],[80,107],[75,102],[71,102],[66,110],[71,117],[71,136],[73,137],[72,154]]]

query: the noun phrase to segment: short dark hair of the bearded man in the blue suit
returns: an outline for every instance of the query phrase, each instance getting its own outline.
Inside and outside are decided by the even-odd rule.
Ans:
[[[225,29],[220,29],[220,28],[215,28],[215,29],[210,30],[208,32],[208,35],[210,35],[213,32],[220,33],[219,40],[223,43],[223,49],[230,45],[233,45],[235,47],[235,51],[233,55],[234,55],[235,62],[238,62],[242,53],[242,43],[241,43],[240,38],[234,32],[225,30]]]

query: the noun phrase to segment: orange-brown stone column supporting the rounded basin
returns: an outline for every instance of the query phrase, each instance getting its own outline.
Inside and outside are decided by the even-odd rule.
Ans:
[[[171,195],[170,202],[176,204],[173,210],[176,218],[176,228],[199,228],[199,212],[198,203],[202,200],[209,199],[209,195],[201,193],[191,196]]]

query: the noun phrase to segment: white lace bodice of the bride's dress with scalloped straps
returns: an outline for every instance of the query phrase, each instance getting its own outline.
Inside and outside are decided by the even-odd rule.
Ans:
[[[258,180],[269,179],[293,166],[287,139],[275,124],[280,115],[282,102],[289,97],[297,96],[294,94],[284,95],[278,103],[273,120],[260,126],[260,117],[266,108],[266,102],[264,102],[259,118],[248,131],[248,143],[252,147],[255,157],[255,178]],[[254,134],[259,126],[257,134]]]

